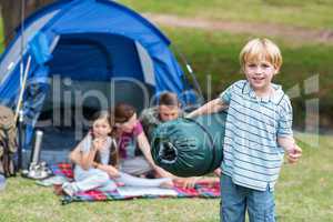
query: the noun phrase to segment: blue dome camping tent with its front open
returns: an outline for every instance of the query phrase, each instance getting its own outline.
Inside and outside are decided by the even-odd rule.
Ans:
[[[182,97],[188,84],[170,43],[147,19],[114,1],[60,0],[28,18],[2,53],[0,103],[16,109],[23,88],[24,149],[31,148],[38,127],[48,145],[68,153],[82,133],[67,134],[71,142],[65,143],[65,130],[59,128],[81,121],[84,129],[87,113],[78,109],[124,101],[141,110],[162,91],[188,98]]]

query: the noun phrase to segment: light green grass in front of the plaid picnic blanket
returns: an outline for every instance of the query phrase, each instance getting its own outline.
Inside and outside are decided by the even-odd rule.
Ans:
[[[61,205],[51,188],[11,178],[0,193],[0,221],[218,221],[219,200],[142,199]]]

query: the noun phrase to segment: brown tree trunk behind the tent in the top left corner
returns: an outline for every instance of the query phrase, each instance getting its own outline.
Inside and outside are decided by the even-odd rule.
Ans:
[[[23,0],[24,18],[53,1],[56,0]],[[16,34],[14,29],[21,23],[21,4],[22,0],[0,0],[6,46],[12,40]]]

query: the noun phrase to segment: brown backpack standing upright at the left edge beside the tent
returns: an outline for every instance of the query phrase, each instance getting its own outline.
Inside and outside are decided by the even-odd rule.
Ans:
[[[11,109],[0,105],[0,173],[16,175],[17,129]]]

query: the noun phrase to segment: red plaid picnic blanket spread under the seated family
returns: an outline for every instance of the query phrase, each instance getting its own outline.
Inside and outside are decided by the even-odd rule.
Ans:
[[[59,163],[57,165],[51,167],[52,172],[56,175],[62,175],[68,179],[73,178],[73,170],[72,165],[69,163]],[[147,188],[149,189],[149,188]],[[121,190],[121,188],[119,189]],[[129,199],[138,199],[138,198],[220,198],[220,183],[208,183],[208,182],[201,182],[199,180],[198,183],[195,183],[194,188],[182,188],[179,185],[175,185],[172,190],[174,191],[172,195],[170,195],[170,192],[167,192],[163,194],[163,190],[161,189],[160,194],[155,193],[149,193],[145,192],[145,194],[139,194],[133,190],[133,193],[131,193],[131,190],[127,192],[127,194],[123,194],[123,192],[111,191],[111,192],[102,192],[98,190],[93,191],[85,191],[85,192],[79,192],[74,196],[62,196],[62,203],[71,203],[71,202],[78,202],[78,201],[110,201],[110,200],[129,200]],[[169,189],[168,189],[169,190]]]

